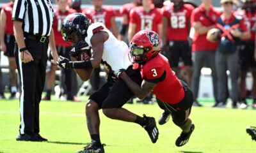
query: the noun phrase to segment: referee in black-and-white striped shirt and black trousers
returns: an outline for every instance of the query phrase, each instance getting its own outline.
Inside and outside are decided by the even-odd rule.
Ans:
[[[44,89],[48,45],[57,61],[51,0],[16,0],[12,20],[19,52],[15,52],[21,82],[18,141],[47,141],[39,135],[39,103]]]

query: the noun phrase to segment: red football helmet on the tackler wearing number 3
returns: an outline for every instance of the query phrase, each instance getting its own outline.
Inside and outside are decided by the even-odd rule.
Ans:
[[[161,40],[154,31],[142,30],[136,33],[129,44],[130,60],[141,63],[152,59],[160,52],[160,44]]]

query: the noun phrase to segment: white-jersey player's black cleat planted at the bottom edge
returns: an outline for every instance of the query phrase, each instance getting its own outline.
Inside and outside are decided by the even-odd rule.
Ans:
[[[95,142],[92,141],[91,143],[86,145],[83,150],[79,150],[77,152],[78,153],[104,153],[105,152],[104,146],[105,144],[101,144],[100,147],[97,147],[95,145]]]

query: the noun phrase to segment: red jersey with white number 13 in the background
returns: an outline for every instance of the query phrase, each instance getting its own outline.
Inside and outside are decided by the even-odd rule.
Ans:
[[[154,5],[148,12],[143,10],[143,6],[138,6],[131,10],[129,22],[136,24],[135,33],[141,30],[152,30],[158,33],[157,25],[162,24],[161,11]]]

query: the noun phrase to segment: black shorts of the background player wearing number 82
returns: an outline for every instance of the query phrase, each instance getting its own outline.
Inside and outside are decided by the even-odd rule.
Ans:
[[[171,68],[178,68],[180,57],[185,66],[192,66],[191,48],[188,41],[169,41],[168,60]]]

